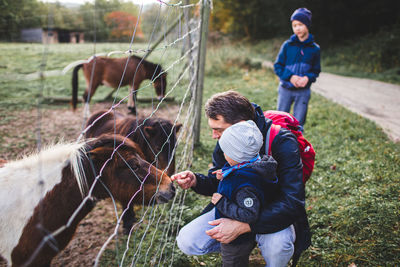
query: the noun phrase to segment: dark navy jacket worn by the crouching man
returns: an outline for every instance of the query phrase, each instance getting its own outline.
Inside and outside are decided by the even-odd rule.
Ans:
[[[265,137],[272,121],[265,119],[259,106],[253,105],[256,111],[254,121],[264,136],[264,144],[260,150],[262,156],[265,155]],[[294,224],[296,242],[293,259],[297,261],[300,253],[311,244],[311,233],[304,208],[303,165],[297,139],[289,130],[281,128],[271,144],[271,150],[273,158],[278,162],[279,192],[273,201],[265,203],[259,219],[250,224],[250,228],[256,234],[269,234]],[[217,191],[219,180],[212,172],[221,169],[226,163],[218,142],[212,160],[213,167],[207,176],[196,173],[197,184],[193,187],[196,193],[212,196]]]

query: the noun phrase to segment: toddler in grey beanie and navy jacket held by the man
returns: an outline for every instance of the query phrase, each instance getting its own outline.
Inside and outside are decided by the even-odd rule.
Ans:
[[[257,220],[260,206],[276,192],[276,161],[270,156],[260,158],[263,136],[254,121],[242,121],[228,127],[219,139],[227,164],[216,171],[220,180],[217,193],[212,196],[212,210],[196,218],[190,224],[211,229],[208,221],[218,218],[253,223]],[[255,235],[243,234],[229,244],[221,244],[223,266],[247,266],[249,255],[255,246]],[[179,240],[179,238],[178,238]],[[179,246],[178,242],[178,246]]]

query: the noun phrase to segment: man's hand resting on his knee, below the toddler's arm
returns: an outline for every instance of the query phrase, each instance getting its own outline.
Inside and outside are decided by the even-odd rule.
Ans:
[[[251,231],[249,224],[228,218],[221,218],[208,223],[216,226],[206,231],[206,234],[224,244],[230,243],[239,235]]]

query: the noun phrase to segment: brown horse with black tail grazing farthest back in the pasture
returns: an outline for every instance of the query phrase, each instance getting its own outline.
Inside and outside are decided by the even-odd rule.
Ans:
[[[117,89],[129,85],[130,96],[128,109],[136,114],[136,92],[143,80],[153,82],[158,99],[165,96],[167,73],[160,65],[146,61],[138,56],[127,58],[93,57],[87,63],[77,65],[72,73],[72,107],[75,110],[78,101],[78,71],[83,68],[86,80],[86,91],[83,100],[89,102],[97,87],[104,84]]]

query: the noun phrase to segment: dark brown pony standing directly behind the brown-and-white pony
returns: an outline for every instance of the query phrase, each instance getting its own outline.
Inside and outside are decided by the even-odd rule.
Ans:
[[[173,125],[169,120],[162,118],[136,119],[118,112],[107,113],[100,110],[94,113],[87,121],[87,138],[97,137],[104,133],[117,133],[128,136],[139,145],[144,154],[144,159],[153,163],[158,169],[165,170],[168,175],[175,173],[174,151],[176,133],[182,124]],[[124,210],[128,203],[122,203]],[[130,205],[122,216],[123,229],[126,234],[135,222],[133,205]]]

